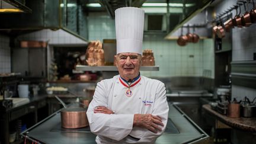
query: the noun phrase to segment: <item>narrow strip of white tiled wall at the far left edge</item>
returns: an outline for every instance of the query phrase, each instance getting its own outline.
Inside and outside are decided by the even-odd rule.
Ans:
[[[0,34],[0,73],[11,72],[9,37]]]

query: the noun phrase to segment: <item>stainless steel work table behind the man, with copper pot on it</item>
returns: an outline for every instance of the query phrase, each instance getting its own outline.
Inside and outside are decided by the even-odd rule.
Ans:
[[[169,119],[174,124],[170,127],[167,124],[166,132],[158,137],[156,144],[160,143],[207,143],[209,136],[193,123],[184,113],[175,105],[169,104]],[[167,132],[170,129],[171,130]],[[52,114],[47,119],[21,133],[26,140],[36,140],[40,143],[95,143],[95,135],[85,128],[83,132],[63,132],[60,125],[60,111]]]

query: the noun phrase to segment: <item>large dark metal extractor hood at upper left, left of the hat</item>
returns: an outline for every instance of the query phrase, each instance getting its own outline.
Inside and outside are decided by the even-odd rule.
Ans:
[[[31,13],[1,14],[0,32],[15,37],[20,34],[30,33],[31,31],[62,29],[79,39],[87,41],[87,9],[83,5],[84,1],[27,1],[26,5],[31,8]]]

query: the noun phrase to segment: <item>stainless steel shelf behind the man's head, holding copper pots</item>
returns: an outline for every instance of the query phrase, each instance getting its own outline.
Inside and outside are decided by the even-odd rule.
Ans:
[[[117,71],[116,66],[85,66],[77,65],[76,71]],[[159,66],[141,66],[140,71],[159,71]]]

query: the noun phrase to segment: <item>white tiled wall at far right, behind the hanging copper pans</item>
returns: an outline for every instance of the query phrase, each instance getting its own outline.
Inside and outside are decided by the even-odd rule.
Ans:
[[[235,5],[237,1],[222,1],[216,7],[216,13],[219,14],[226,10],[226,8]],[[252,8],[252,4],[249,4],[249,9]],[[241,7],[241,14],[244,14],[245,9]],[[236,12],[232,11],[232,15]],[[253,53],[256,53],[256,24],[252,24],[250,27],[232,28],[232,61],[247,61],[253,60]],[[244,96],[247,96],[252,100],[256,97],[256,89],[240,87],[232,85],[232,97],[241,100]]]

